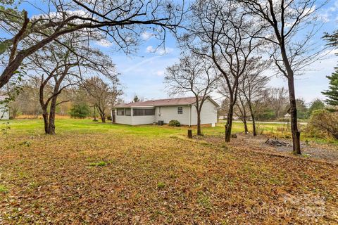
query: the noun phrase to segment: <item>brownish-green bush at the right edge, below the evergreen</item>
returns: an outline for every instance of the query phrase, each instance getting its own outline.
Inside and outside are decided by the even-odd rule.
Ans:
[[[338,139],[338,112],[328,110],[315,110],[308,122],[308,133],[323,136],[329,134]]]

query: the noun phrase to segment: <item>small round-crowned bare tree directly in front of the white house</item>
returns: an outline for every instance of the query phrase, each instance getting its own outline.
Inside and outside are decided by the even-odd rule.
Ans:
[[[196,99],[197,135],[201,135],[201,110],[215,89],[218,75],[208,58],[195,54],[182,56],[180,62],[167,68],[165,84],[171,95],[192,93]]]

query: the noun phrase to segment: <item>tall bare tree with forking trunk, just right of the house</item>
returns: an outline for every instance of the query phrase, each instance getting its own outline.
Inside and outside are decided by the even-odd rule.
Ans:
[[[234,105],[239,79],[258,42],[253,37],[261,30],[251,23],[251,16],[234,1],[197,1],[193,7],[188,32],[180,37],[194,53],[211,58],[229,90],[229,111],[225,124],[225,141],[232,131]]]

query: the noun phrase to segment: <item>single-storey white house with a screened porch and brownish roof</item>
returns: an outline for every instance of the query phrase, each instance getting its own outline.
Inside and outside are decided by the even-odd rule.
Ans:
[[[196,125],[196,98],[168,98],[151,101],[140,101],[116,105],[112,109],[113,123],[117,124],[152,124],[177,120],[182,125]],[[217,122],[218,104],[210,97],[204,101],[201,110],[201,124],[215,125]]]

